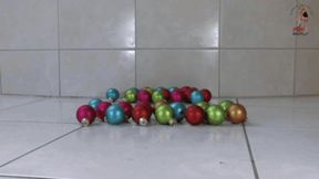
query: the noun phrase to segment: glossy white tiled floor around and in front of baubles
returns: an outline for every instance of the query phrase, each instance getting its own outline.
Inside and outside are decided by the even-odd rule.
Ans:
[[[0,179],[319,176],[319,97],[239,99],[247,136],[227,123],[81,128],[74,113],[88,101],[0,96]]]

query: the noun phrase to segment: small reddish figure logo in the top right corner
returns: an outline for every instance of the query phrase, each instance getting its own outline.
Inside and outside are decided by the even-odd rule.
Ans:
[[[297,4],[291,10],[291,14],[296,12],[296,25],[294,27],[294,35],[307,35],[309,33],[308,22],[311,13],[310,7],[297,0]]]

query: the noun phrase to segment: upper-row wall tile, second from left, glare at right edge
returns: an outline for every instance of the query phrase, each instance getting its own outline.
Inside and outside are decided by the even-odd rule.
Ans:
[[[135,46],[134,0],[60,0],[63,49]]]

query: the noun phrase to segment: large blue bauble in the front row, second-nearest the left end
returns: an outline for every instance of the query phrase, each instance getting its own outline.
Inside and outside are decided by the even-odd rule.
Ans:
[[[106,109],[106,120],[111,125],[120,125],[125,119],[124,109],[114,104]]]

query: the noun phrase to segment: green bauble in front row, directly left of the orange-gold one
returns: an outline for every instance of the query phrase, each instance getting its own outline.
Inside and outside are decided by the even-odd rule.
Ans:
[[[206,113],[207,113],[207,120],[212,125],[220,125],[226,118],[226,113],[219,105],[209,106],[206,109]]]

